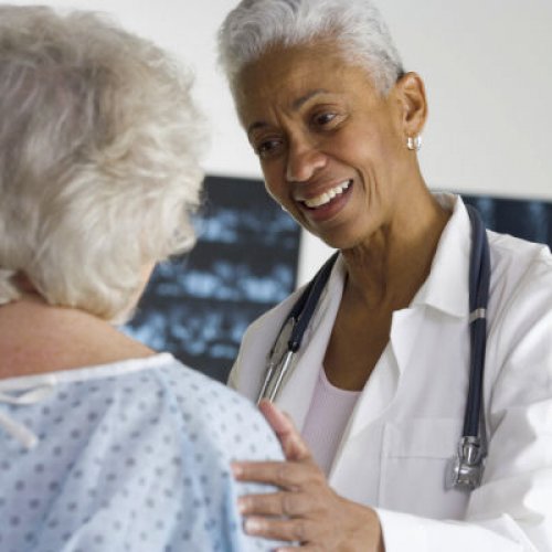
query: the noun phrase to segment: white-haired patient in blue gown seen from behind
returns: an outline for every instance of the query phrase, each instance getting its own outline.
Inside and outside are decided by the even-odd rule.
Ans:
[[[270,550],[236,458],[253,405],[114,326],[191,247],[190,78],[98,15],[0,8],[0,550]],[[268,490],[268,489],[267,489]]]

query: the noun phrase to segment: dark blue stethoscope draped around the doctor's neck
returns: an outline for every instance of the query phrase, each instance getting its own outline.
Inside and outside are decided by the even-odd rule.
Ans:
[[[479,213],[466,205],[471,224],[469,258],[469,386],[464,428],[456,457],[452,458],[445,485],[447,488],[474,490],[479,487],[487,456],[487,438],[482,403],[485,347],[487,342],[487,302],[489,297],[490,258],[487,233]],[[266,373],[257,402],[274,401],[294,368],[294,358],[312,319],[318,300],[339,256],[335,253],[306,286],[293,306],[268,354]]]

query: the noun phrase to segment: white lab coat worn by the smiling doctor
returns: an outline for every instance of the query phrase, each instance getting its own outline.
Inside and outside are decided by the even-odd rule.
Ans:
[[[468,389],[470,225],[461,199],[431,274],[390,341],[338,448],[329,484],[374,508],[386,552],[552,551],[552,255],[488,232],[491,284],[485,372],[489,452],[482,485],[445,488]],[[277,404],[302,427],[344,283],[341,258]],[[300,290],[247,330],[230,385],[256,400],[267,352]],[[359,328],[359,331],[363,331]]]

